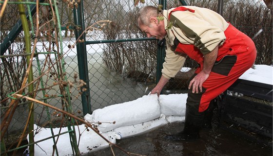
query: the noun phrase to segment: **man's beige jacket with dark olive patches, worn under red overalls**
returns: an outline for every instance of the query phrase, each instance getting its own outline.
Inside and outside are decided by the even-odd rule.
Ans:
[[[195,12],[175,11],[168,20],[170,11],[175,8],[163,11],[164,25],[167,31],[165,36],[167,49],[162,75],[167,79],[175,77],[187,57],[186,54],[171,50],[175,37],[182,44],[194,44],[204,55],[213,51],[216,46],[222,45],[226,39],[224,31],[229,23],[223,17],[206,8],[185,7],[195,10]],[[173,26],[167,29],[170,22]]]

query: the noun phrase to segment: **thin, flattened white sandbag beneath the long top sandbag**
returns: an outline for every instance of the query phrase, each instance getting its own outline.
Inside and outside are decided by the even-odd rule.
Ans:
[[[137,136],[143,133],[150,132],[152,130],[155,130],[156,128],[159,128],[161,126],[164,126],[167,124],[167,121],[163,118],[157,118],[152,121],[147,121],[135,125],[130,126],[122,126],[118,127],[113,130],[113,136],[116,139],[124,139],[129,138],[133,136]]]

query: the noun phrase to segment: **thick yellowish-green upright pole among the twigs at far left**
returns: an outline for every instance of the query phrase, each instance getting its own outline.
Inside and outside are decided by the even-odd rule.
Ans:
[[[21,2],[21,0],[18,0],[19,2]],[[29,28],[28,28],[28,22],[26,19],[26,14],[25,14],[25,8],[23,4],[18,4],[18,8],[19,8],[19,13],[20,13],[20,18],[21,18],[21,22],[22,22],[22,28],[24,31],[24,40],[25,40],[25,52],[26,53],[31,53],[31,42],[30,42],[30,33],[29,33]],[[31,61],[31,55],[27,55],[26,56],[26,61],[27,61],[27,65],[29,68],[29,73],[28,73],[28,83],[33,81],[33,70],[32,70],[32,61]],[[29,85],[28,87],[28,92],[29,97],[32,98],[33,96],[33,84]],[[30,120],[28,123],[28,129],[29,129],[29,143],[34,142],[34,133],[33,133],[33,129],[34,129],[34,107],[33,107],[33,103],[29,104],[29,111],[30,113]],[[34,156],[34,145],[30,145],[29,146],[29,156]]]

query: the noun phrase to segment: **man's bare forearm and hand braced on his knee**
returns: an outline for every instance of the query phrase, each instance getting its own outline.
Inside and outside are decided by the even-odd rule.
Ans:
[[[217,54],[218,54],[218,46],[212,52],[204,55],[203,69],[192,79],[189,85],[189,89],[193,88],[193,93],[195,92],[198,93],[199,90],[200,92],[202,92],[202,85],[208,79],[212,71]]]

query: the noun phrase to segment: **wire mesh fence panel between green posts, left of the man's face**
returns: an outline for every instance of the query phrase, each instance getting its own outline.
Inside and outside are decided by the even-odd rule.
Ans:
[[[90,58],[88,69],[91,104],[94,110],[110,104],[135,100],[148,94],[146,87],[155,81],[149,75],[155,74],[156,41],[119,42],[122,39],[145,37],[137,29],[135,19],[138,8],[134,6],[134,1],[93,2],[94,4],[85,1],[86,27],[103,19],[111,21],[107,27],[102,29],[98,27],[86,36],[86,41],[90,41],[87,57]],[[150,2],[153,5],[156,3],[157,1]],[[94,40],[114,41],[93,44]]]

